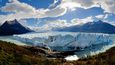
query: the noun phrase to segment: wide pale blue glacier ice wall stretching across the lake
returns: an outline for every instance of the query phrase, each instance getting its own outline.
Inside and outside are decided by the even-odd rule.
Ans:
[[[46,34],[46,33],[44,33]],[[45,36],[41,34],[15,35],[14,38],[22,42],[30,43],[31,45],[47,46],[54,50],[78,50],[84,49],[97,44],[113,43],[112,36],[102,33],[61,33],[51,35],[48,33]],[[42,33],[43,35],[43,33]],[[32,36],[32,37],[31,37]]]

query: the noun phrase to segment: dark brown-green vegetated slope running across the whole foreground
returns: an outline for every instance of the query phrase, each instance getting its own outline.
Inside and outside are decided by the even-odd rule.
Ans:
[[[0,41],[0,65],[115,65],[115,47],[78,61],[48,59],[46,50]]]

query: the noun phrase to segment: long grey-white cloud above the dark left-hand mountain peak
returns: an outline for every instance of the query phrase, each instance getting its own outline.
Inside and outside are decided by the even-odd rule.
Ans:
[[[0,21],[13,19],[28,19],[28,18],[45,18],[45,17],[58,17],[66,13],[66,8],[57,6],[53,9],[35,9],[27,3],[19,2],[18,0],[10,0],[5,6],[0,8],[3,12],[12,12],[8,15],[0,15]]]

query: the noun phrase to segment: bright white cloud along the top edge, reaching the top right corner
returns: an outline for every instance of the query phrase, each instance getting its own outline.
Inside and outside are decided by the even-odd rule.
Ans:
[[[62,0],[62,7],[66,8],[91,8],[91,7],[100,7],[108,13],[115,14],[115,0]]]

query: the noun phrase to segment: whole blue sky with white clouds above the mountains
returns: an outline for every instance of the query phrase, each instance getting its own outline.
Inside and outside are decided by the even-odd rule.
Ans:
[[[48,30],[98,20],[115,25],[115,0],[0,0],[0,24],[14,19]]]

